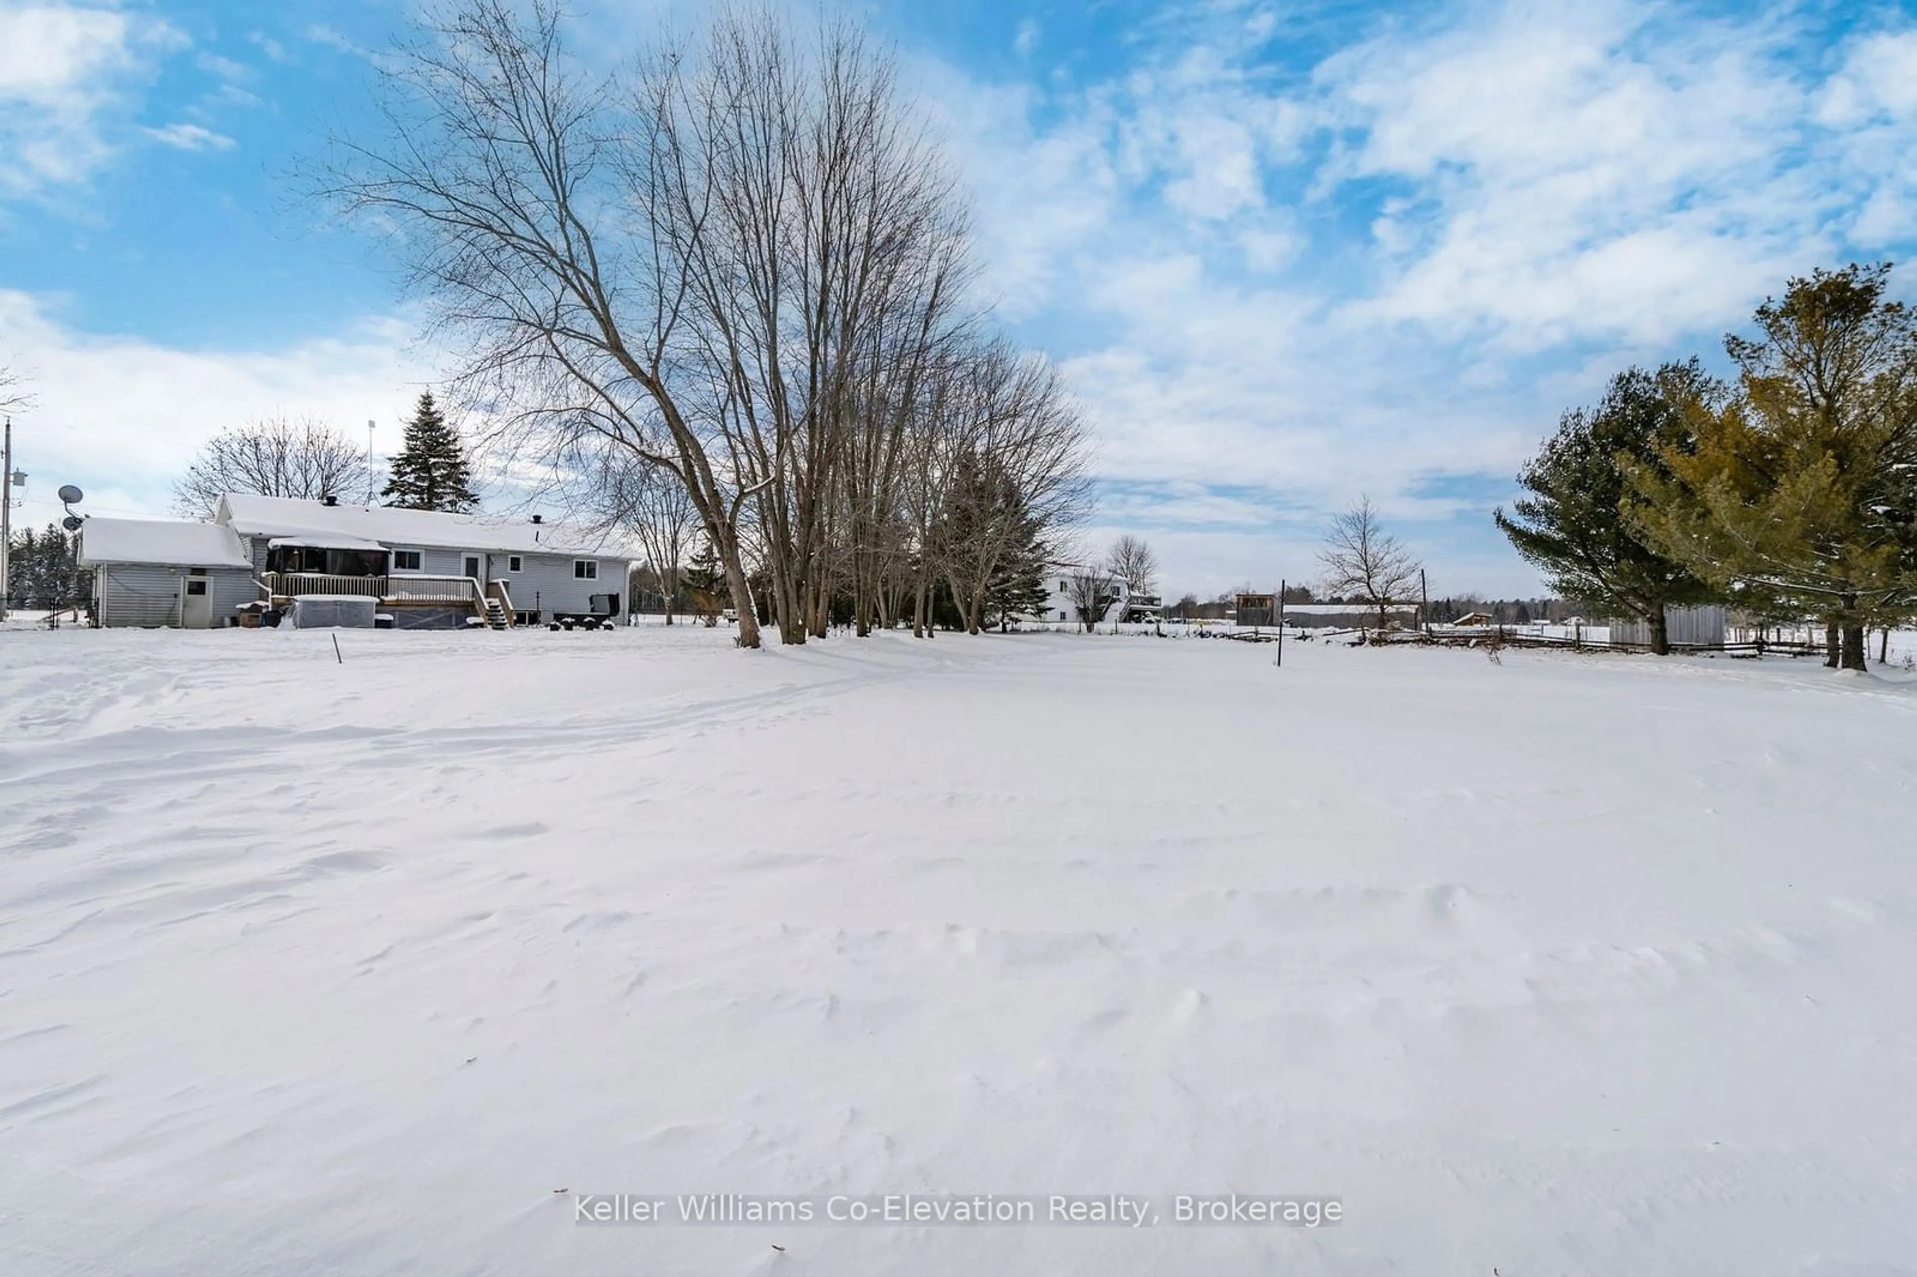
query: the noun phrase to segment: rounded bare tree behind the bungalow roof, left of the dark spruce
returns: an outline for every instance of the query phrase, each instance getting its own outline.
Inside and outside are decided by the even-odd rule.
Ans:
[[[224,493],[353,497],[368,487],[366,454],[314,418],[265,418],[207,441],[173,485],[180,514],[209,518]]]

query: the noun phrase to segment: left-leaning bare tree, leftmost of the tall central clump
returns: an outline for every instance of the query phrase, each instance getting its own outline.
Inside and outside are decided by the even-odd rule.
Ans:
[[[577,69],[546,0],[431,10],[389,65],[385,136],[337,140],[320,186],[395,228],[435,332],[466,351],[458,389],[497,412],[489,443],[562,464],[615,449],[679,479],[738,642],[759,646],[738,520],[755,489],[684,322],[715,192],[681,146],[677,59],[654,65],[640,84]]]

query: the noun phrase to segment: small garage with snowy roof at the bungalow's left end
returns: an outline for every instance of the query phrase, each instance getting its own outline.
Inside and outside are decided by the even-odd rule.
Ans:
[[[104,520],[81,525],[96,625],[219,629],[259,598],[245,545],[219,523]]]

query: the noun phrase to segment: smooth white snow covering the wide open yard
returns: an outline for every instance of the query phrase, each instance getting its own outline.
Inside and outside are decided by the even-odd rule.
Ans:
[[[1917,1271],[1907,677],[727,642],[4,635],[0,1273]]]

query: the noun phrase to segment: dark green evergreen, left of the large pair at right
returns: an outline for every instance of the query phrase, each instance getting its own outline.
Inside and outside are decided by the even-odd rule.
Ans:
[[[1721,393],[1695,359],[1620,372],[1595,408],[1559,418],[1557,435],[1524,464],[1518,483],[1530,495],[1511,504],[1511,516],[1491,514],[1553,592],[1645,621],[1658,656],[1670,652],[1666,608],[1706,602],[1712,589],[1639,533],[1631,520],[1639,497],[1620,458],[1658,466],[1660,447],[1683,445],[1685,405]]]

